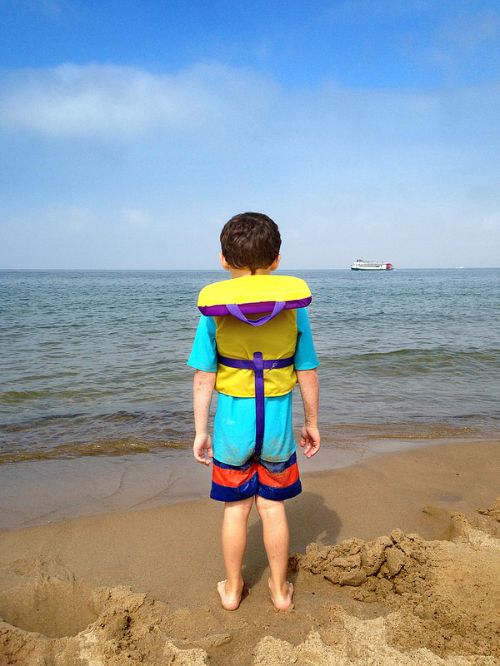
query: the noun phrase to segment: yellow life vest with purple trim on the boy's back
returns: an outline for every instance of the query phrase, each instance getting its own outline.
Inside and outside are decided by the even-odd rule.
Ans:
[[[297,381],[295,310],[309,305],[311,299],[304,280],[285,275],[248,275],[204,287],[198,308],[213,316],[217,326],[215,389],[241,398],[256,397],[262,373],[265,396],[289,393]],[[257,365],[262,359],[262,368],[256,368],[255,359]]]

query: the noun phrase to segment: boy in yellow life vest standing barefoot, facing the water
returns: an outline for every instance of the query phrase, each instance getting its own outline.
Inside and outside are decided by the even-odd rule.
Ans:
[[[284,500],[302,488],[292,431],[292,389],[304,404],[300,446],[320,448],[319,365],[307,316],[307,284],[271,276],[281,237],[267,215],[242,213],[221,233],[220,260],[231,280],[200,292],[202,312],[188,360],[193,384],[195,459],[212,467],[213,499],[225,502],[222,550],[226,579],[217,589],[226,610],[238,608],[247,522],[255,503],[262,521],[269,589],[278,610],[292,606],[287,581],[289,531]],[[213,390],[218,392],[213,448],[207,432]]]

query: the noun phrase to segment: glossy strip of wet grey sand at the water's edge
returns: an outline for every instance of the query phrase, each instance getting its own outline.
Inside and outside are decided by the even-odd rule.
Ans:
[[[401,430],[387,436],[381,429],[372,437],[349,431],[344,437],[326,439],[319,455],[307,459],[298,454],[301,478],[311,472],[342,469],[387,454],[477,440],[443,432],[441,439],[416,438]],[[394,433],[395,434],[395,433]],[[422,433],[423,434],[423,433]],[[498,460],[492,465],[498,466]],[[189,450],[157,449],[150,452],[71,458],[28,460],[0,465],[0,531],[16,530],[117,511],[177,504],[208,497],[211,468],[196,463]]]

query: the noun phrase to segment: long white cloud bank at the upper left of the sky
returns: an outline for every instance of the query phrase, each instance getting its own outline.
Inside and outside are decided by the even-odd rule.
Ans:
[[[82,138],[196,131],[231,123],[236,112],[238,122],[252,121],[272,87],[251,72],[213,64],[177,74],[99,64],[23,70],[0,83],[0,128]]]

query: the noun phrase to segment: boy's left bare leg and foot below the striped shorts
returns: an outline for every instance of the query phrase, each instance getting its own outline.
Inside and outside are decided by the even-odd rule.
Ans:
[[[222,552],[226,566],[226,580],[217,585],[221,602],[226,610],[236,610],[243,592],[241,567],[247,546],[248,515],[253,497],[236,502],[226,502],[222,521]]]

